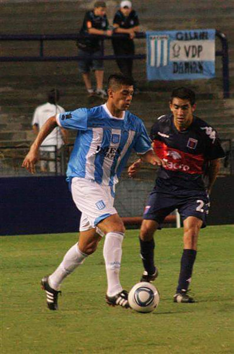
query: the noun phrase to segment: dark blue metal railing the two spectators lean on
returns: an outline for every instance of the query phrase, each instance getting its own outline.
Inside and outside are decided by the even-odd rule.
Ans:
[[[104,60],[115,60],[116,58],[132,58],[132,59],[145,59],[146,54],[135,54],[135,55],[104,55],[103,42],[106,39],[111,38],[126,38],[128,35],[124,34],[114,34],[113,36],[98,36],[101,39],[102,44],[102,55],[96,56],[96,59]],[[97,38],[97,35],[86,35],[81,36],[80,34],[45,34],[45,35],[34,35],[34,34],[1,34],[0,41],[39,41],[39,55],[37,56],[0,56],[1,62],[35,62],[35,61],[78,61],[83,59],[80,56],[45,56],[44,55],[44,42],[45,41],[64,41],[64,40],[78,40],[79,38]],[[144,32],[136,33],[136,39],[145,38]],[[221,40],[222,50],[216,50],[215,55],[222,57],[222,77],[223,77],[223,98],[229,98],[229,57],[228,57],[228,40],[224,33],[216,30],[216,37]]]

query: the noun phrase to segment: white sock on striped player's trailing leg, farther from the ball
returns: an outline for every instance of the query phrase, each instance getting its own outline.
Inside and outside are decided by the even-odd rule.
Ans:
[[[78,265],[82,264],[86,257],[87,255],[79,250],[78,243],[73,245],[65,254],[62,263],[49,276],[48,282],[52,289],[58,290],[63,279],[71,274]]]

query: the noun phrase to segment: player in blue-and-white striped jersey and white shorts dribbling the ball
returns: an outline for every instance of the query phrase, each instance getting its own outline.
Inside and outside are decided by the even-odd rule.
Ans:
[[[132,79],[111,75],[106,104],[49,118],[23,161],[22,166],[34,173],[39,146],[56,126],[78,131],[68,163],[67,180],[73,200],[81,211],[79,242],[68,250],[55,272],[41,281],[51,310],[58,308],[63,279],[96,250],[103,235],[108,283],[106,302],[129,307],[127,291],[122,289],[119,280],[125,228],[113,206],[115,184],[132,150],[152,165],[164,164],[153,152],[142,120],[128,111],[132,95]]]

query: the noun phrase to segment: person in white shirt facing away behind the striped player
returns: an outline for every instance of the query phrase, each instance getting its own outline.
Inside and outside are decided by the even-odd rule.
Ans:
[[[64,108],[59,106],[59,91],[52,89],[48,92],[48,100],[45,104],[38,106],[33,114],[33,131],[38,135],[42,125],[51,116],[65,112]],[[56,172],[56,152],[62,145],[67,143],[67,131],[57,127],[44,140],[40,147],[40,168],[41,172]],[[58,166],[57,166],[58,167]]]

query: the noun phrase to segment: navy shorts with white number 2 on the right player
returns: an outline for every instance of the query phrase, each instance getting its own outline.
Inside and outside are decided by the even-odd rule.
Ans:
[[[195,216],[202,220],[202,227],[206,227],[209,207],[210,199],[205,190],[189,191],[187,195],[184,193],[174,195],[159,193],[153,189],[145,206],[143,219],[154,220],[161,224],[167,215],[178,209],[182,221],[188,216]]]

